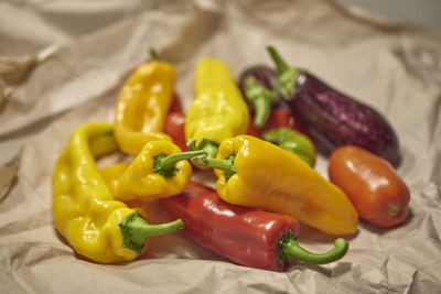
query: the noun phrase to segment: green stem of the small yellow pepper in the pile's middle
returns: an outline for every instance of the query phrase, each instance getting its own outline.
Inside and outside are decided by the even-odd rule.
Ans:
[[[165,153],[158,154],[153,157],[153,172],[164,177],[172,177],[176,174],[176,163],[179,161],[190,160],[194,156],[204,154],[205,151],[187,151],[166,155]]]

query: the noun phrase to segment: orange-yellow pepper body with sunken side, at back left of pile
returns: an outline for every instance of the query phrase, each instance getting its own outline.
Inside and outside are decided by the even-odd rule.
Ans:
[[[174,79],[172,65],[152,61],[140,65],[125,83],[115,109],[115,137],[123,152],[137,155],[151,140],[172,141],[162,130]]]

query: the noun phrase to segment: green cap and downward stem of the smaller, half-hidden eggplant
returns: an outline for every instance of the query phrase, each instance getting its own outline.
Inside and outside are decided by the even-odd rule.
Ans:
[[[249,76],[245,80],[245,96],[255,107],[255,127],[262,128],[271,113],[275,91],[261,85],[254,76]]]

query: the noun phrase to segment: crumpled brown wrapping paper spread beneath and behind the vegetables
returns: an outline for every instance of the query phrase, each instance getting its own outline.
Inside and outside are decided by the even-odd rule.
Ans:
[[[152,238],[129,264],[76,255],[51,217],[52,170],[71,132],[112,120],[119,88],[150,47],[176,66],[187,109],[200,57],[223,58],[238,76],[270,64],[268,44],[388,118],[411,190],[408,221],[362,222],[344,259],[287,273],[235,265],[182,233]],[[324,0],[6,1],[0,55],[1,293],[441,293],[440,32]],[[325,177],[326,166],[320,156]],[[323,252],[333,238],[303,226],[300,241]]]

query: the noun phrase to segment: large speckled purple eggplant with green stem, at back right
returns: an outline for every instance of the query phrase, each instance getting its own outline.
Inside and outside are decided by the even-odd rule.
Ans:
[[[378,111],[311,73],[288,66],[273,47],[268,52],[277,65],[281,96],[305,123],[318,150],[330,154],[341,145],[357,145],[399,165],[398,138]]]

